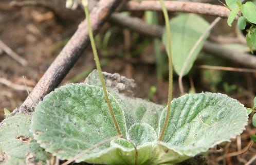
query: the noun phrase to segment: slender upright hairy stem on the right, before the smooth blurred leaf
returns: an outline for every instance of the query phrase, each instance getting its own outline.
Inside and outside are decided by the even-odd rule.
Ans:
[[[169,118],[170,118],[170,111],[171,111],[171,101],[172,101],[172,83],[173,83],[173,68],[172,68],[172,44],[171,44],[171,28],[170,28],[170,22],[169,22],[169,16],[166,9],[166,6],[163,3],[163,0],[160,0],[164,20],[166,22],[166,30],[167,30],[167,36],[168,36],[168,54],[169,54],[169,92],[168,92],[168,102],[167,102],[167,114],[166,114],[166,120],[164,121],[164,125],[162,127],[162,132],[159,137],[159,140],[162,141],[162,138],[164,136],[164,132],[166,131]]]

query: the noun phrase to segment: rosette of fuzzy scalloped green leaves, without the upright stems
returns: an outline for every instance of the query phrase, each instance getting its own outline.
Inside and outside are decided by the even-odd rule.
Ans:
[[[68,84],[35,108],[34,139],[61,159],[80,154],[76,162],[126,165],[136,164],[137,159],[138,164],[174,164],[241,134],[248,120],[246,108],[227,95],[187,94],[172,101],[167,130],[159,142],[167,108],[158,117],[159,112],[133,108],[134,102],[125,97],[108,95],[123,138],[101,143],[118,135],[101,87]],[[129,119],[127,112],[132,114]],[[151,119],[154,122],[143,123]]]

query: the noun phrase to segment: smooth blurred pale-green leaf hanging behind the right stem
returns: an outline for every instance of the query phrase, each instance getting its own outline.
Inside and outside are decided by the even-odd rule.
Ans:
[[[179,14],[174,17],[171,22],[172,32],[172,60],[176,73],[179,75],[181,68],[184,65],[191,49],[194,47],[200,36],[209,27],[209,23],[202,17],[196,14]],[[184,75],[188,74],[196,60],[199,52],[202,50],[205,40],[208,38],[209,33],[205,36],[204,40],[198,45],[188,65],[186,66]],[[167,34],[166,31],[162,35],[162,41],[167,48]],[[168,51],[167,51],[168,52]]]

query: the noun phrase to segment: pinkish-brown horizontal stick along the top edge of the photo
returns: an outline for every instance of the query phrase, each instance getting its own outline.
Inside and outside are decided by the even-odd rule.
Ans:
[[[178,2],[178,1],[164,1],[164,4],[168,11],[172,12],[190,12],[198,14],[207,14],[213,16],[220,16],[228,18],[230,10],[224,6],[211,5],[205,3],[195,2]],[[123,9],[125,11],[141,11],[141,10],[155,10],[161,11],[161,4],[159,1],[129,1]]]

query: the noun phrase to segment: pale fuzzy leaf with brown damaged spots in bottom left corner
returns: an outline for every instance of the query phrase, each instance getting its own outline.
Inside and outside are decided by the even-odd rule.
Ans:
[[[0,164],[51,164],[46,153],[29,132],[30,115],[7,117],[0,125]]]

